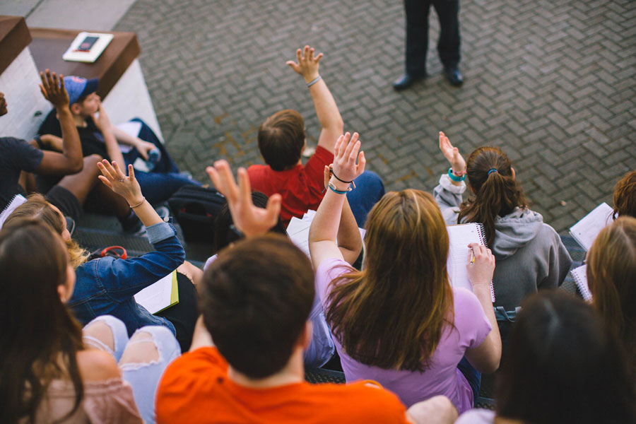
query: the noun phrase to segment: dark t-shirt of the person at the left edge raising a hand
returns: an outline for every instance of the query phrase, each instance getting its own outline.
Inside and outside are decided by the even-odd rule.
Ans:
[[[42,163],[42,151],[13,137],[0,137],[0,212],[16,194],[24,194],[18,184],[20,171],[35,172]]]

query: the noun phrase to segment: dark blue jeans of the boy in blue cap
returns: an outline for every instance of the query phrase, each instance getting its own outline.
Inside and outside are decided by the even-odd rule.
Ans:
[[[141,124],[139,138],[153,143],[161,152],[161,158],[152,172],[135,170],[135,177],[137,181],[139,181],[141,192],[151,204],[156,205],[167,201],[173,193],[184,185],[201,185],[200,182],[179,173],[179,167],[177,167],[175,161],[170,158],[170,154],[167,153],[165,146],[159,141],[150,126],[146,125],[146,123],[139,118],[131,119],[131,121]],[[132,148],[128,153],[124,153],[126,166],[130,163],[134,163],[140,156],[136,148]]]

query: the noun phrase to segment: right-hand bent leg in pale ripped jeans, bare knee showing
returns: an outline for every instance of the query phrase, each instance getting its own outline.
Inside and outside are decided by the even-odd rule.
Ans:
[[[181,355],[172,331],[163,326],[143,326],[130,338],[119,368],[130,383],[135,403],[146,423],[155,422],[155,397],[165,367]]]

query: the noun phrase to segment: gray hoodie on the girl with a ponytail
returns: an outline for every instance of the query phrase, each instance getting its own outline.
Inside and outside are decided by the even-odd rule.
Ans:
[[[448,175],[440,177],[433,190],[447,225],[457,224],[461,195],[466,184],[452,184]],[[570,271],[572,258],[561,238],[543,216],[530,209],[515,208],[507,216],[495,218],[495,306],[514,310],[524,298],[539,288],[556,288]]]

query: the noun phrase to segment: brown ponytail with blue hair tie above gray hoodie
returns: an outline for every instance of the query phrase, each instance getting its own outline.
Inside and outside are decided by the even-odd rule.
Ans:
[[[491,170],[494,170],[491,172]],[[524,192],[512,175],[510,160],[498,147],[480,147],[466,162],[473,194],[459,206],[457,223],[483,223],[488,246],[495,242],[495,218],[526,207]]]

